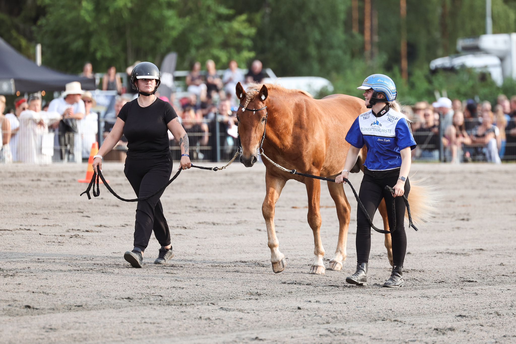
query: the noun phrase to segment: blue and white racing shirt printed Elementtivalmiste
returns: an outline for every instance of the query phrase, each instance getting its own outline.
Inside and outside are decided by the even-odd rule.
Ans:
[[[411,150],[416,148],[405,116],[393,109],[378,118],[371,110],[362,113],[349,128],[346,141],[356,148],[367,146],[364,166],[373,171],[400,167],[399,151],[407,147]]]

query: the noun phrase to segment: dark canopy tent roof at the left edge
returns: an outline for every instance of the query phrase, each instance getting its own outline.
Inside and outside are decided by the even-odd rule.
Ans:
[[[95,89],[95,79],[38,66],[0,38],[0,94],[63,91],[72,81],[79,81],[83,90]]]

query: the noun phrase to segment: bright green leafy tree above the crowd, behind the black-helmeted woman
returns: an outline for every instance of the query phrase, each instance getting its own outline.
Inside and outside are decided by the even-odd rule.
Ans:
[[[255,29],[216,0],[39,1],[46,10],[36,35],[43,61],[62,71],[78,72],[85,61],[96,71],[135,60],[159,64],[171,51],[178,52],[178,68],[195,59],[243,62],[254,55]]]

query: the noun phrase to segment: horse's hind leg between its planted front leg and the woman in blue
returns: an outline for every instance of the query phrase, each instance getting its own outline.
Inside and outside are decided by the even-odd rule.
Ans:
[[[342,184],[335,184],[328,182],[328,190],[330,191],[331,198],[335,202],[337,208],[338,217],[338,240],[335,255],[330,260],[328,265],[329,270],[341,270],[343,261],[346,260],[346,245],[348,242],[348,228],[351,206],[349,205],[346,194],[344,193],[344,187]]]

